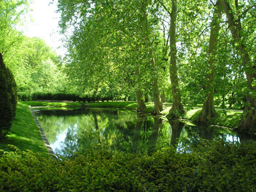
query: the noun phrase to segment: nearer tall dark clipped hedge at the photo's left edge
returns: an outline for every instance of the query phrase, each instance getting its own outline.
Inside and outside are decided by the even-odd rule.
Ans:
[[[10,100],[6,67],[0,52],[0,138],[4,138],[12,126],[12,105]]]

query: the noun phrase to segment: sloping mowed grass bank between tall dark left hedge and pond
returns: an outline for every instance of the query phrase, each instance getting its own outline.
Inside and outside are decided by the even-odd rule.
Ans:
[[[48,155],[29,106],[24,102],[18,102],[12,128],[8,132],[7,138],[0,141],[0,149],[6,152],[14,150],[8,145],[14,145],[20,150],[31,150]]]

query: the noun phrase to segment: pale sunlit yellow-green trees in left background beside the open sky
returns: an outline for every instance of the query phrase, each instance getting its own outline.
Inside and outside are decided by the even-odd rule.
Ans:
[[[29,38],[20,31],[29,13],[29,3],[0,2],[0,52],[17,83],[19,99],[31,99],[37,92],[74,93],[72,86],[68,86],[61,57],[44,40]]]

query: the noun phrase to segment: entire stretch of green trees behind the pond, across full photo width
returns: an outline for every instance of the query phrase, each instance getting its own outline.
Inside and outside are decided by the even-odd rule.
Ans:
[[[56,1],[56,0],[55,0]],[[243,109],[239,131],[255,132],[255,0],[58,0],[67,55],[19,31],[28,0],[0,2],[0,52],[19,100],[74,93],[98,100],[154,102],[169,118],[203,104]],[[2,76],[2,75],[1,75]]]

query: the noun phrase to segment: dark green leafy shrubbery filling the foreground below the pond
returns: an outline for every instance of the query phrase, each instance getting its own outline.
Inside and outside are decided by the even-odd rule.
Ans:
[[[224,141],[152,156],[105,145],[58,160],[9,152],[0,159],[0,191],[255,191],[255,156],[255,143]]]

